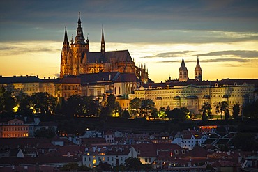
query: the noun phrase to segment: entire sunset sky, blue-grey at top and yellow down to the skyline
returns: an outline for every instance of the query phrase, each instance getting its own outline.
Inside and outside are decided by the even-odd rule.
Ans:
[[[23,0],[0,3],[0,75],[58,77],[65,26],[75,38],[80,11],[90,51],[128,49],[149,77],[178,78],[182,56],[194,77],[258,78],[258,1]]]

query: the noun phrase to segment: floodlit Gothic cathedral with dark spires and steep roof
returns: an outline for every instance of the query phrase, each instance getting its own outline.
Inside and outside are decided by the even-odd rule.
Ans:
[[[148,81],[148,72],[146,67],[135,66],[128,50],[105,51],[105,38],[102,29],[100,42],[100,52],[90,52],[89,38],[86,42],[82,30],[82,23],[79,16],[77,26],[77,36],[75,40],[68,42],[67,31],[65,29],[63,49],[61,52],[60,77],[79,76],[82,74],[99,72],[120,72],[134,73],[142,83]]]

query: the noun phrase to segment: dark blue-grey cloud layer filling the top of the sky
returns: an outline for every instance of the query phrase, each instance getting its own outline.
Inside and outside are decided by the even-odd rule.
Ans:
[[[202,42],[211,39],[163,35],[167,30],[243,31],[258,30],[258,1],[1,1],[1,40],[57,40],[57,30],[77,27],[81,11],[84,33],[100,36],[101,24],[109,28],[109,41]],[[39,31],[41,29],[43,31]],[[38,31],[36,31],[38,30]],[[69,33],[70,34],[70,33]],[[75,31],[74,33],[75,34]],[[91,37],[93,38],[93,37]],[[122,39],[121,39],[122,38]],[[215,38],[213,38],[214,40]],[[257,39],[256,38],[246,38]],[[119,40],[119,41],[120,41]],[[229,41],[218,38],[218,42]]]

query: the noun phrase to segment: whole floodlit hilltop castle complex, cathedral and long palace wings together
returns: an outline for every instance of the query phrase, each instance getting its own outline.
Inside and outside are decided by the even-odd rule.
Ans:
[[[188,78],[184,58],[178,72],[178,79],[169,78],[161,83],[149,81],[145,65],[137,67],[128,50],[105,51],[103,29],[100,52],[91,52],[89,38],[85,42],[79,16],[75,40],[72,38],[68,41],[65,29],[60,78],[0,75],[0,86],[12,91],[13,95],[48,92],[64,100],[71,95],[82,95],[101,101],[107,95],[114,94],[120,100],[123,99],[123,109],[128,108],[129,100],[138,97],[153,100],[157,109],[167,106],[170,109],[187,107],[194,113],[199,113],[203,102],[208,102],[213,107],[215,102],[227,101],[231,108],[236,103],[244,105],[258,99],[258,79],[204,81],[199,58],[195,70],[192,71],[195,74],[194,79]]]

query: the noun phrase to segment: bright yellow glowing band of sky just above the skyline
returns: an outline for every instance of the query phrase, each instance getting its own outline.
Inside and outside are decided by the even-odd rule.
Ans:
[[[61,60],[61,42],[54,41],[33,41],[33,42],[5,42],[0,43],[6,50],[0,51],[1,70],[3,76],[13,75],[38,75],[43,77],[59,77]],[[100,43],[90,43],[91,52],[100,52],[98,49]],[[149,77],[155,82],[178,78],[178,71],[181,65],[182,56],[184,56],[185,65],[188,68],[188,77],[194,78],[194,70],[198,54],[208,54],[220,49],[220,52],[231,49],[232,51],[241,49],[242,51],[252,51],[256,48],[258,42],[232,42],[232,43],[214,43],[214,44],[156,44],[135,43],[126,44],[119,42],[107,42],[106,51],[115,51],[126,49],[136,58],[136,65],[146,64],[149,70]],[[92,48],[91,48],[92,47]],[[113,47],[110,48],[109,47]],[[10,51],[12,49],[12,51]],[[183,52],[167,56],[170,52]],[[159,55],[160,54],[160,55]],[[232,59],[225,63],[220,59]],[[215,80],[223,78],[258,78],[258,58],[252,61],[236,61],[237,56],[199,56],[199,62],[202,68],[204,80]],[[208,61],[214,61],[208,63]],[[22,64],[23,65],[20,65]],[[242,64],[242,65],[241,65]],[[12,66],[12,70],[10,70]],[[227,71],[227,72],[226,72]]]

